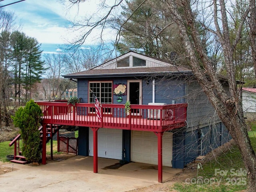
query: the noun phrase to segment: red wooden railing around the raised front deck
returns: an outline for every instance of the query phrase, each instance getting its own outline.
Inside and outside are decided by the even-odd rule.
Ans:
[[[187,104],[131,105],[126,114],[124,104],[102,104],[100,120],[94,104],[37,102],[44,114],[43,122],[50,124],[119,128],[127,130],[162,130],[186,125]]]

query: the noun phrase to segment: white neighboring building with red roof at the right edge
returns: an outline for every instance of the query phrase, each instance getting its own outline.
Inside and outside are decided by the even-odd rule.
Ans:
[[[242,88],[244,118],[256,120],[256,88]]]

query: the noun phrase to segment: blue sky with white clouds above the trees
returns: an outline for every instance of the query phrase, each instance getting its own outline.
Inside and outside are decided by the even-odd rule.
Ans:
[[[1,5],[16,2],[18,0],[2,0]],[[16,4],[4,7],[8,12],[14,12],[16,24],[19,31],[24,32],[27,36],[34,37],[42,44],[43,53],[54,53],[61,51],[61,46],[68,42],[74,41],[81,33],[68,29],[72,26],[68,20],[81,19],[82,16],[90,16],[97,10],[98,0],[82,3],[79,6],[73,6],[68,9],[59,0],[25,0]],[[109,0],[111,2],[112,0]],[[104,12],[101,12],[104,14]],[[81,48],[88,48],[97,43],[98,32],[93,33]],[[114,38],[114,34],[106,32],[108,39]]]

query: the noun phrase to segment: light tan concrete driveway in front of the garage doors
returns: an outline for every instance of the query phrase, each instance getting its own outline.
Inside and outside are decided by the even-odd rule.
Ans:
[[[4,164],[18,170],[0,175],[0,192],[125,192],[158,183],[157,166],[129,163],[115,166],[118,160],[98,158],[98,173],[93,173],[93,157],[75,156],[46,165]],[[163,167],[163,180],[181,169]]]

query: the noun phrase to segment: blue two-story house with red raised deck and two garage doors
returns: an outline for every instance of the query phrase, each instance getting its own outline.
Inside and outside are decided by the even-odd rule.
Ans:
[[[160,175],[162,165],[184,168],[197,156],[230,140],[190,68],[128,52],[91,70],[64,77],[77,79],[78,97],[84,106],[93,104],[92,92],[102,104],[101,121],[96,118],[89,122],[94,109],[90,109],[92,105],[82,109],[82,103],[76,109],[80,116],[72,117],[77,118],[71,120],[73,125],[79,126],[79,155],[94,156],[96,146],[98,157],[158,164]],[[122,108],[128,100],[134,106],[126,116]],[[188,108],[181,112],[184,106]],[[44,118],[43,123],[49,122],[71,124],[68,120]],[[94,172],[97,163],[94,159]]]

